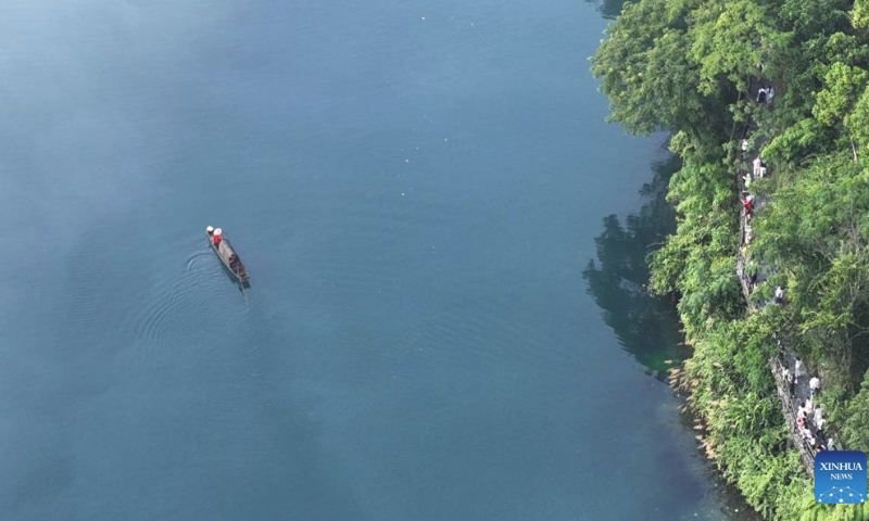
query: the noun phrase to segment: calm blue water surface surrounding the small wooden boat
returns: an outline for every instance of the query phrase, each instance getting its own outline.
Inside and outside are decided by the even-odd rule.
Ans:
[[[667,162],[603,123],[596,5],[0,20],[2,519],[748,519],[616,291],[645,232],[595,243]]]

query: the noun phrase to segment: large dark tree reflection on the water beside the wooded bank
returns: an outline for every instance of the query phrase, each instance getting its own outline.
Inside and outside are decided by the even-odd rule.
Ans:
[[[646,203],[624,225],[616,215],[604,218],[604,230],[594,239],[597,262],[589,260],[582,270],[589,294],[619,343],[662,381],[689,351],[680,345],[679,316],[672,303],[645,289],[646,257],[676,231],[676,214],[666,195],[670,176],[680,166],[676,156],[652,165],[655,176],[640,191]]]

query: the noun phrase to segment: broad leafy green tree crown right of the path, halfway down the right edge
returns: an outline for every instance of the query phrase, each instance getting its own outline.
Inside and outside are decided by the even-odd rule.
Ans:
[[[869,175],[846,155],[826,156],[780,185],[753,251],[783,274],[804,354],[846,381],[853,338],[869,325]]]

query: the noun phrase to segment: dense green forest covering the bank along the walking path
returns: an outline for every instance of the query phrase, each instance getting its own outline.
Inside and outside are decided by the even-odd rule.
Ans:
[[[703,445],[765,517],[869,519],[815,503],[788,444],[768,360],[773,334],[816,368],[831,432],[869,450],[869,0],[639,0],[592,58],[612,120],[671,132],[677,229],[648,256],[652,290],[678,300],[693,354],[680,378]],[[758,82],[774,87],[757,103]],[[736,277],[742,129],[771,175],[752,187],[752,293]]]

